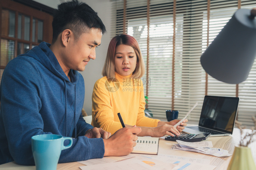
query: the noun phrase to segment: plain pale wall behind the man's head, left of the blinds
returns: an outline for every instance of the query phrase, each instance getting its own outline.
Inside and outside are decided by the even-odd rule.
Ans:
[[[57,8],[57,5],[66,0],[34,0],[38,3]],[[83,108],[88,115],[92,112],[92,92],[94,83],[102,77],[101,72],[105,62],[108,44],[111,40],[111,4],[110,0],[80,0],[87,3],[95,12],[98,13],[102,22],[106,26],[107,33],[102,36],[101,45],[96,48],[96,59],[90,60],[85,70],[80,72],[85,80],[85,102]]]

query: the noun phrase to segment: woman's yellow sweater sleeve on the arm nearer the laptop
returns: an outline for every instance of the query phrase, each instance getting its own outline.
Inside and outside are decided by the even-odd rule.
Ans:
[[[142,83],[141,83],[142,84]],[[143,89],[143,85],[140,87],[140,89]],[[160,121],[158,119],[153,119],[145,116],[145,96],[144,92],[140,92],[140,108],[138,110],[138,118],[137,118],[137,126],[146,126],[146,127],[156,127],[157,123]]]

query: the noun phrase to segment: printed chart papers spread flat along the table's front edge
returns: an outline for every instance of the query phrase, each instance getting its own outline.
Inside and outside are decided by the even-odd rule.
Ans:
[[[116,160],[116,161],[112,161]],[[103,161],[102,161],[103,160]],[[119,160],[119,161],[117,161]],[[109,163],[107,163],[110,161]],[[198,163],[201,162],[201,163]],[[87,166],[80,166],[81,170],[213,170],[216,166],[209,165],[210,160],[194,159],[189,157],[171,156],[171,155],[140,155],[130,154],[115,159],[113,156],[100,159],[90,159],[80,161]]]

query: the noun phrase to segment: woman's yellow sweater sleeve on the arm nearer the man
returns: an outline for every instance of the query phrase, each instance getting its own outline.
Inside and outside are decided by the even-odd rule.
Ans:
[[[122,128],[120,122],[114,121],[110,92],[105,88],[106,77],[96,81],[92,94],[92,126],[101,127],[114,134]]]

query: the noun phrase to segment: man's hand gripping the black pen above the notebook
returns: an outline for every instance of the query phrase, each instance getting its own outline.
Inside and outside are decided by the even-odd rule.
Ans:
[[[137,134],[141,132],[140,127],[125,127],[116,131],[108,139],[103,139],[104,156],[123,156],[132,152],[136,146]]]

